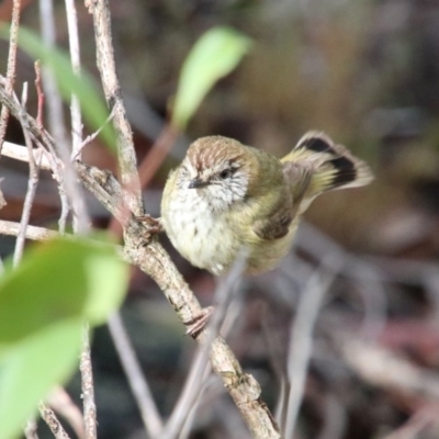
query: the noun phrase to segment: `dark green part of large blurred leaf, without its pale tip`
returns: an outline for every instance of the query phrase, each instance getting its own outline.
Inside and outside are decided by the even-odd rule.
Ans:
[[[44,326],[82,315],[87,302],[87,251],[55,239],[26,251],[0,278],[0,346]]]

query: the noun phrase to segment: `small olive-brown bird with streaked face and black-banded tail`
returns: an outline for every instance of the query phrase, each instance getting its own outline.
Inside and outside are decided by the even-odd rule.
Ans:
[[[245,272],[259,273],[286,255],[317,195],[372,179],[368,165],[324,133],[305,134],[282,159],[232,138],[202,137],[169,176],[161,223],[192,264],[223,274],[246,248]]]

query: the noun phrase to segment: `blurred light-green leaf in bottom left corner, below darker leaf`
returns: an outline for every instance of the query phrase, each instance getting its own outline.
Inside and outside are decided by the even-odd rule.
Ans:
[[[0,431],[16,438],[38,401],[74,372],[82,319],[49,325],[13,345],[0,360]]]

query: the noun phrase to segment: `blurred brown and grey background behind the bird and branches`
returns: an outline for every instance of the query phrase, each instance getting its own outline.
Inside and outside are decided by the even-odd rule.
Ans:
[[[0,4],[0,20],[9,20],[9,3]],[[37,31],[37,3],[25,3],[23,24]],[[64,5],[56,4],[58,43],[67,48]],[[97,75],[92,19],[83,4],[78,2],[77,7],[82,63]],[[386,305],[380,300],[381,305],[373,305],[385,315],[378,325],[382,328],[378,339],[436,372],[439,281],[429,278],[427,282],[423,270],[424,263],[436,263],[439,255],[439,2],[110,0],[110,7],[117,69],[139,161],[169,119],[181,66],[198,37],[215,25],[227,25],[252,40],[249,54],[203,101],[145,191],[147,211],[159,215],[167,173],[184,156],[191,139],[221,134],[282,156],[307,130],[327,132],[364,158],[376,179],[368,188],[322,196],[306,218],[350,251],[368,255],[384,270],[389,281],[382,301]],[[1,71],[5,71],[5,58],[7,44],[1,42]],[[33,64],[21,53],[16,89],[22,81],[33,79]],[[36,109],[35,102],[29,108]],[[19,125],[12,121],[7,139],[22,142]],[[86,149],[85,160],[116,169],[98,142]],[[2,158],[0,170],[9,202],[0,215],[18,221],[26,167]],[[46,177],[38,189],[32,224],[54,224],[58,216],[56,189]],[[105,212],[91,200],[90,209],[95,224],[104,227],[109,222]],[[167,245],[166,237],[162,241]],[[9,239],[1,238],[0,244],[2,254],[11,248]],[[172,251],[169,245],[167,248]],[[172,255],[201,301],[210,304],[214,280]],[[407,259],[416,260],[419,270],[392,264]],[[283,267],[291,261],[288,259]],[[284,290],[277,290],[281,281],[273,286],[275,275],[282,277],[282,268],[279,272],[262,277],[258,284],[247,281],[245,312],[229,336],[245,368],[260,380],[270,404],[275,403],[279,381],[268,354],[263,322],[269,322],[286,350],[302,284],[300,273],[290,279],[293,299],[285,299]],[[357,285],[341,275],[327,296],[323,314],[336,315],[337,327],[353,330],[367,308]],[[160,409],[167,414],[194,346],[181,337],[182,328],[156,285],[135,270],[124,316]],[[316,329],[317,341],[323,344],[324,329],[328,329],[327,320]],[[341,359],[328,354],[325,344],[316,346],[320,350],[316,348],[313,357],[299,437],[385,437],[427,404],[419,397],[361,382],[347,371]],[[104,328],[95,334],[94,356],[100,437],[144,437]],[[75,380],[71,385],[76,385]],[[322,432],[326,425],[323,394],[335,395],[337,407],[342,409],[344,428],[338,436]],[[236,436],[240,420],[233,410],[227,397],[214,394],[212,404],[199,410],[193,437],[245,437]],[[224,417],[228,426],[221,420]],[[431,431],[414,437],[438,437],[437,423]]]

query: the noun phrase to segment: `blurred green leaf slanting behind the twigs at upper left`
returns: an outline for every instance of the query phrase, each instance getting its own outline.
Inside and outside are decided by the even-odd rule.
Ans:
[[[9,29],[0,26],[0,36],[9,38]],[[82,69],[77,76],[66,52],[56,47],[48,47],[34,32],[21,26],[19,33],[19,46],[29,56],[40,59],[44,67],[50,69],[56,80],[59,93],[65,102],[70,103],[71,94],[75,93],[81,105],[86,123],[92,131],[103,126],[100,135],[111,150],[115,150],[115,135],[113,125],[105,123],[109,116],[109,109],[103,98],[98,93],[100,87],[91,75]]]

